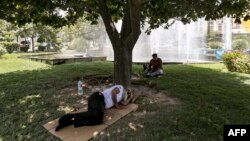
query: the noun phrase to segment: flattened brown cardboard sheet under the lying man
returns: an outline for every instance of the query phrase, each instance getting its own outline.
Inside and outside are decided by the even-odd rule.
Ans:
[[[74,126],[71,125],[55,132],[55,127],[58,125],[58,119],[55,119],[44,124],[43,127],[47,129],[51,134],[64,141],[87,141],[128,113],[137,110],[137,108],[138,105],[131,103],[125,109],[109,109],[106,111],[104,123],[101,125],[83,126],[78,128],[74,128]],[[80,109],[77,112],[82,111],[85,110]]]

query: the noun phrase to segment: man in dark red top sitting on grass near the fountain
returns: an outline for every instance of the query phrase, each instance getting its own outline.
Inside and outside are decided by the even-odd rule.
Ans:
[[[161,58],[158,58],[156,53],[152,57],[149,64],[143,65],[146,77],[156,77],[163,74]]]

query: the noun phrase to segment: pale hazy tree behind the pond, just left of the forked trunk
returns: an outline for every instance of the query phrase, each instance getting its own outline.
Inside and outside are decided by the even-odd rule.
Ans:
[[[80,18],[75,25],[63,27],[60,36],[69,49],[86,52],[92,43],[101,50],[106,41],[106,31],[101,19],[98,22],[101,24],[91,25],[85,18]]]

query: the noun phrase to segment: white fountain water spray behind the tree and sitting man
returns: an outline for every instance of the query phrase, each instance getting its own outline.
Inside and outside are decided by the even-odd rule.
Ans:
[[[121,23],[117,23],[120,29]],[[207,22],[184,25],[175,22],[169,29],[155,29],[150,35],[142,31],[133,50],[133,62],[148,62],[153,53],[157,53],[163,62],[188,62],[204,60],[203,50],[207,34]],[[113,60],[111,44],[106,45],[108,60]],[[111,55],[112,52],[112,55]]]

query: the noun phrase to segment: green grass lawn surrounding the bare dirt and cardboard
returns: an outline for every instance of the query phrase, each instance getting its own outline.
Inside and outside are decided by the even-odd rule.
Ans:
[[[0,59],[0,141],[54,141],[42,125],[65,113],[79,96],[60,95],[76,87],[77,76],[111,77],[111,62],[49,66],[17,59]],[[178,106],[143,105],[148,113],[133,120],[138,130],[122,130],[120,120],[94,140],[223,140],[224,124],[250,123],[250,76],[227,72],[223,64],[165,65],[165,75],[145,79],[178,99]],[[141,66],[134,65],[139,73]],[[138,101],[139,106],[141,101]],[[119,132],[118,132],[119,130]],[[124,131],[124,132],[121,132]]]

